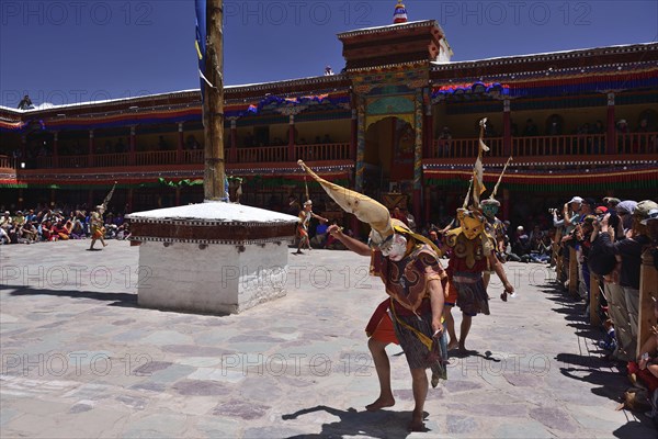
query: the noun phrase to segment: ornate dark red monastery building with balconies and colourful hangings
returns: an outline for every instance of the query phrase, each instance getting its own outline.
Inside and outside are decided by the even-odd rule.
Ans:
[[[241,182],[242,203],[285,211],[308,187],[314,205],[348,221],[305,182],[303,159],[327,180],[439,223],[468,187],[485,116],[485,182],[514,158],[499,194],[503,218],[527,214],[511,204],[545,210],[576,193],[657,193],[657,43],[452,63],[433,20],[338,38],[340,74],[225,89],[234,199]],[[0,108],[0,133],[5,209],[92,205],[114,181],[115,211],[203,199],[198,90]]]

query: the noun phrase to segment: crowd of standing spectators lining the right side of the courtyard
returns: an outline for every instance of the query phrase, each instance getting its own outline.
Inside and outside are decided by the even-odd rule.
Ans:
[[[637,341],[640,267],[645,251],[653,252],[658,269],[658,203],[616,198],[597,202],[574,196],[563,206],[561,218],[557,211],[554,210],[554,221],[558,235],[554,243],[561,258],[560,266],[565,268],[558,272],[558,279],[566,288],[577,284],[575,290],[588,306],[590,294],[597,294],[602,306],[595,312],[601,316],[605,334],[598,345],[608,351],[608,360],[627,371],[632,382],[649,391],[653,410],[647,416],[657,418],[658,328],[654,326],[654,334],[639,349]],[[574,279],[568,270],[569,263],[572,264],[570,255],[576,255],[578,266]],[[599,291],[590,291],[592,277],[599,280]],[[586,315],[589,311],[586,308]],[[655,303],[656,317],[658,303]]]

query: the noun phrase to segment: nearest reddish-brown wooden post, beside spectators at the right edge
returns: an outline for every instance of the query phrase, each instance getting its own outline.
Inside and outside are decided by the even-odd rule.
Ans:
[[[654,256],[650,250],[642,255],[639,269],[639,316],[637,318],[637,351],[632,352],[639,356],[639,350],[646,340],[651,337],[651,326],[656,325],[654,315],[654,300],[658,300],[658,270],[654,266]]]

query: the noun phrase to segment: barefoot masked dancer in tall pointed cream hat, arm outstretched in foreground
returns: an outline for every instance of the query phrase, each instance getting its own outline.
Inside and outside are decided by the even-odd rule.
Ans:
[[[427,237],[390,217],[388,209],[361,193],[318,177],[299,160],[299,166],[348,213],[367,223],[368,244],[347,236],[336,225],[329,234],[348,249],[371,258],[371,274],[382,279],[388,299],[379,304],[366,326],[368,349],[379,381],[379,397],[366,406],[370,412],[395,405],[390,386],[390,362],[386,346],[398,342],[411,372],[415,407],[409,429],[424,429],[424,402],[428,394],[427,369],[432,386],[446,379],[447,349],[443,331],[443,281],[446,274],[438,248]]]

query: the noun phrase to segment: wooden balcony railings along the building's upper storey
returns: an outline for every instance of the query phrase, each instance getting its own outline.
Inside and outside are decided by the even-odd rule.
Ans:
[[[485,140],[490,148],[487,157],[504,159],[526,158],[545,162],[547,160],[592,160],[604,156],[658,157],[658,133],[617,134],[616,146],[608,148],[605,134],[512,137],[509,150],[502,137]],[[453,138],[434,140],[429,160],[449,160],[458,162],[477,156],[477,138]],[[225,149],[227,164],[285,164],[297,159],[306,161],[350,160],[350,144],[295,145],[293,157],[288,157],[288,146],[261,146],[253,148]],[[25,160],[26,169],[80,169],[80,168],[129,168],[161,167],[177,165],[203,165],[203,149],[140,151],[121,154],[95,154],[79,156],[41,156],[36,160]],[[22,161],[22,160],[21,160]],[[14,170],[19,164],[12,157],[0,156],[0,169]]]

